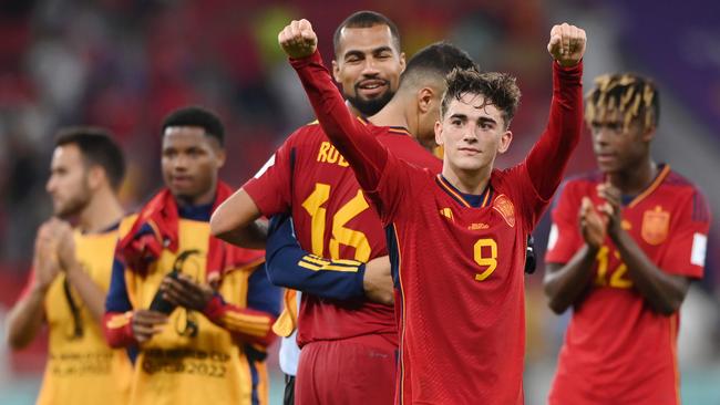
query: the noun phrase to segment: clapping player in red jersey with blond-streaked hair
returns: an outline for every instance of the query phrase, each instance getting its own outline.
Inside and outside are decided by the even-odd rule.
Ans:
[[[599,170],[568,180],[553,210],[545,292],[573,307],[551,404],[680,404],[679,309],[702,278],[708,204],[657,163],[655,84],[595,80],[585,121]]]

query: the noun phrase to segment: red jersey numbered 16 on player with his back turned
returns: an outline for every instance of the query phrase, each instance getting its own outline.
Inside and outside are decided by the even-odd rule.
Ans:
[[[346,108],[347,110],[347,108]],[[357,118],[402,158],[439,173],[441,162],[403,128],[379,128]],[[348,162],[320,125],[296,131],[266,170],[243,188],[263,215],[291,211],[300,246],[320,257],[367,262],[388,255],[378,214],[370,208]],[[302,294],[298,321],[300,346],[317,340],[382,334],[398,344],[393,309],[372,302],[326,301]]]

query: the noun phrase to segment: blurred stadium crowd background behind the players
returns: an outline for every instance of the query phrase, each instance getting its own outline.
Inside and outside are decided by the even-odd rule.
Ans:
[[[511,153],[520,160],[544,126],[551,74],[545,45],[555,22],[588,32],[585,81],[631,70],[661,92],[655,156],[696,181],[714,224],[702,282],[682,307],[680,365],[686,404],[720,404],[720,3],[685,0],[2,0],[0,1],[0,321],[29,269],[38,224],[51,212],[44,193],[51,139],[66,124],[111,128],[130,172],[123,200],[134,209],[161,185],[160,122],[172,108],[203,104],[229,134],[223,177],[239,186],[311,112],[277,45],[292,18],[308,18],[326,61],[331,35],[353,11],[385,13],[408,55],[449,40],[484,70],[511,72],[523,91]],[[589,135],[569,174],[594,168]],[[547,218],[535,232],[543,256]],[[568,315],[553,315],[541,289],[543,266],[527,278],[526,403],[544,404]],[[0,323],[1,324],[1,323]],[[3,326],[0,332],[4,335]],[[34,401],[43,339],[11,353],[0,346],[0,403]],[[276,350],[274,350],[276,352]],[[271,404],[281,378],[274,353]]]

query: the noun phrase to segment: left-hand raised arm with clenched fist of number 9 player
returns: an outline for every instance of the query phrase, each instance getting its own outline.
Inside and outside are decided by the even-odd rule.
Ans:
[[[322,129],[350,163],[360,186],[367,190],[376,189],[388,160],[388,150],[344,105],[322,64],[312,25],[308,20],[294,20],[280,31],[278,42],[298,72]]]

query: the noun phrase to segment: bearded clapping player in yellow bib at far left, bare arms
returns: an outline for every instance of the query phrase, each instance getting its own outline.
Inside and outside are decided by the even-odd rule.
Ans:
[[[125,404],[131,364],[112,350],[100,322],[110,285],[125,173],[120,147],[103,129],[59,132],[47,190],[56,218],[35,239],[31,278],[8,314],[8,342],[27,346],[49,326],[49,359],[38,404]],[[64,220],[78,222],[72,229]]]

